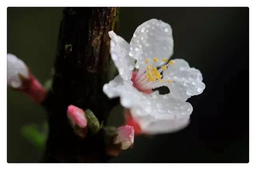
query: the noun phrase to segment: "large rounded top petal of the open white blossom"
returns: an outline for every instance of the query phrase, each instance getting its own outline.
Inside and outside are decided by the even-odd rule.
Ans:
[[[173,53],[172,28],[169,24],[151,19],[135,30],[130,42],[129,56],[135,58],[136,68],[143,67],[148,59],[153,67],[164,64],[163,58],[170,58]],[[158,58],[158,62],[153,62]]]

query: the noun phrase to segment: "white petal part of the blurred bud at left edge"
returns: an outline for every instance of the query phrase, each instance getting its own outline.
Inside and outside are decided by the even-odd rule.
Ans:
[[[24,78],[28,78],[29,72],[26,64],[17,58],[15,55],[7,54],[7,85],[12,88],[20,88],[22,86],[22,80],[20,75]]]

